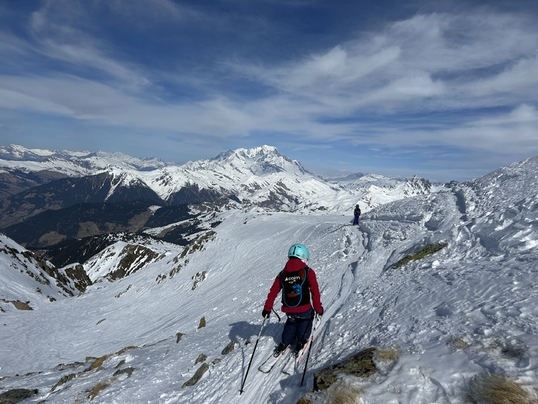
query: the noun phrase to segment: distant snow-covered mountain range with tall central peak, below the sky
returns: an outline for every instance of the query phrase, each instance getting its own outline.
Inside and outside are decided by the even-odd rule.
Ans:
[[[117,203],[148,199],[162,205],[233,198],[244,208],[301,213],[350,214],[356,203],[367,212],[382,203],[434,190],[428,180],[366,176],[332,183],[309,173],[275,147],[237,149],[182,166],[151,165],[124,154],[57,152],[11,145],[0,152],[4,184],[16,194],[0,199],[0,229],[46,210],[76,203]],[[149,169],[153,168],[153,169]],[[28,177],[33,173],[34,177]],[[36,178],[36,176],[41,177]],[[47,180],[43,173],[65,178]],[[21,187],[27,189],[21,191]],[[36,187],[36,184],[40,184]],[[5,187],[11,189],[12,186]],[[7,192],[7,191],[6,191]]]

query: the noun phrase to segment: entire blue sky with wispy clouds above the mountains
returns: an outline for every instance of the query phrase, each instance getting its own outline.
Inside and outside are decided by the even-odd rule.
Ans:
[[[538,154],[538,2],[0,1],[0,145],[469,180]]]

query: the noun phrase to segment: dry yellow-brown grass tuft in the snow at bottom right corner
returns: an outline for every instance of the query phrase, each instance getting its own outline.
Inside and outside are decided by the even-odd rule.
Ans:
[[[534,404],[536,401],[520,384],[504,375],[482,373],[471,380],[471,398],[476,403]]]

